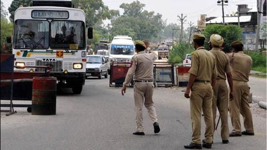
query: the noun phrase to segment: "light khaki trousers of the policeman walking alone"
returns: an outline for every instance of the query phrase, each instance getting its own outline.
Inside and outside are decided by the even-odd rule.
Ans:
[[[134,83],[134,104],[135,104],[135,113],[136,113],[136,131],[144,132],[143,127],[143,114],[142,108],[143,104],[148,110],[149,117],[152,122],[157,122],[157,115],[155,105],[152,100],[153,95],[153,82],[136,82]]]

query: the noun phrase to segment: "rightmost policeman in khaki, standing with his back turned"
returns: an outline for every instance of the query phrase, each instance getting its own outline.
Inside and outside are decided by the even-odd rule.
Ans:
[[[252,59],[244,54],[243,43],[234,41],[230,47],[230,62],[233,68],[234,100],[229,102],[233,131],[229,136],[254,135],[252,115],[249,105],[250,88],[248,85]],[[246,131],[241,133],[240,114],[243,116]]]

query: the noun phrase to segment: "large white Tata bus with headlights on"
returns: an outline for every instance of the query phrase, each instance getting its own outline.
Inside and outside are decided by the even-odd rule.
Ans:
[[[39,72],[43,68],[23,66],[50,65],[50,75],[57,78],[59,86],[80,94],[86,69],[85,14],[81,9],[70,8],[71,0],[61,1],[61,6],[68,6],[56,7],[56,0],[33,0],[33,6],[16,10],[13,54],[15,65],[22,68],[15,70]],[[92,38],[92,28],[87,34]]]

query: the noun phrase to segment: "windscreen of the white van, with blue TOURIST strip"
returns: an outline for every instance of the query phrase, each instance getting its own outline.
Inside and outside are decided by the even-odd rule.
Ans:
[[[134,55],[134,46],[112,45],[110,54],[113,55]]]

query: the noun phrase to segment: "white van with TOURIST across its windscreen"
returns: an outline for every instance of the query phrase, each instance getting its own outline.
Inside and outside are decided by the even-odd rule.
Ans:
[[[131,63],[134,56],[134,42],[127,35],[117,35],[113,38],[109,51],[110,63],[113,61]]]

